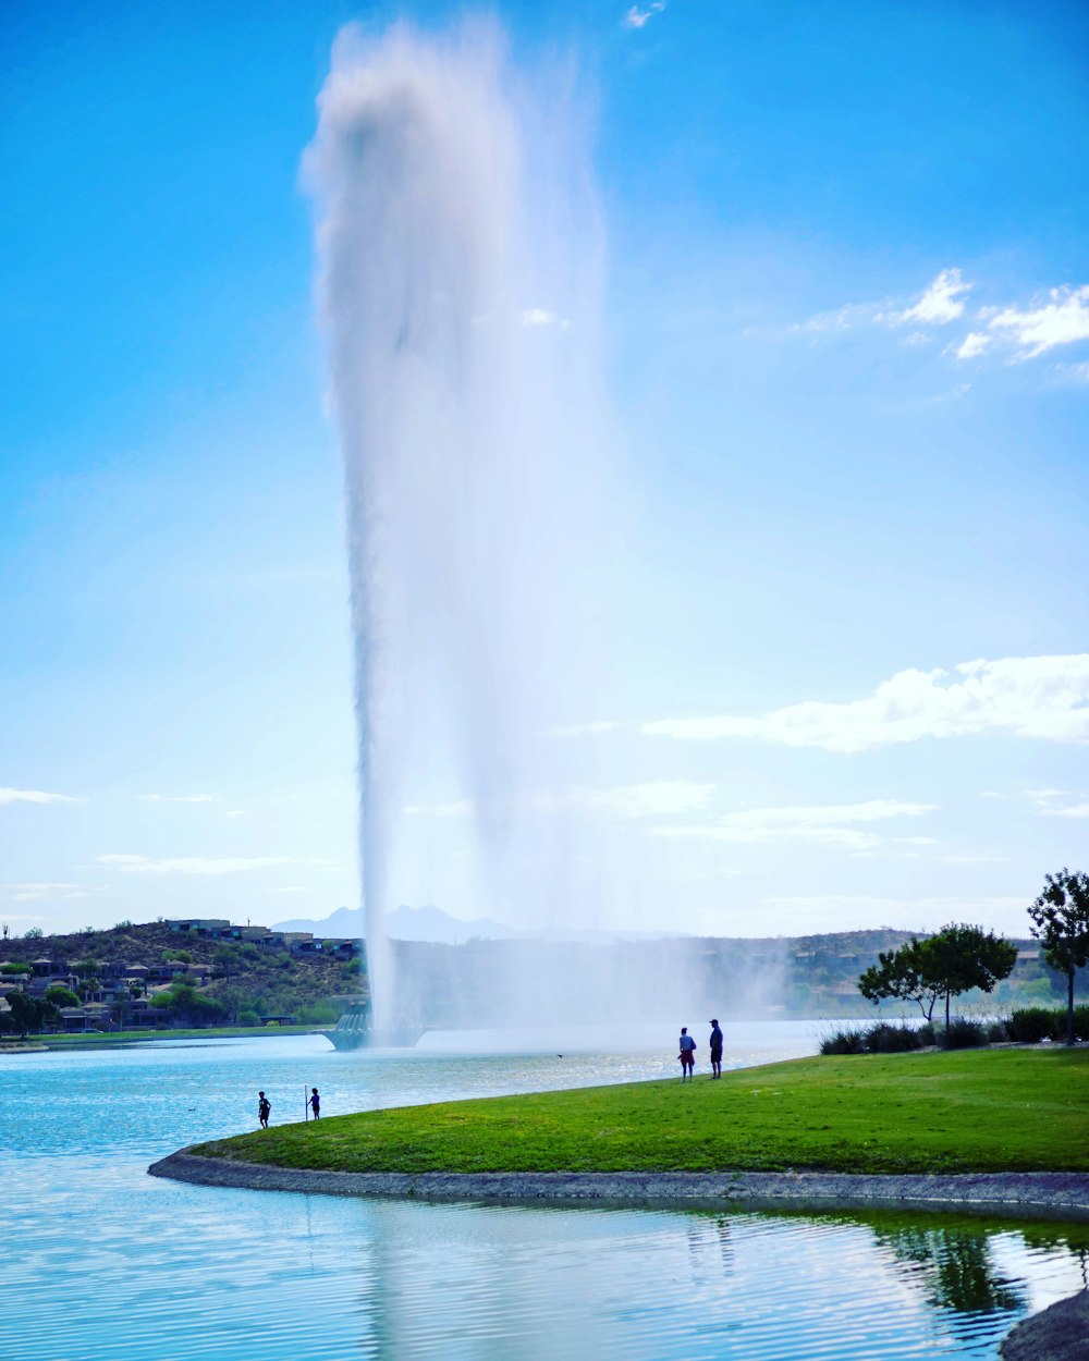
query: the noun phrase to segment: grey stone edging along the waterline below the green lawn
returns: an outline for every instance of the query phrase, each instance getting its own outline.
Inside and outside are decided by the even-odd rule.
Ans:
[[[995,1172],[867,1176],[845,1172],[312,1172],[208,1158],[181,1149],[147,1169],[196,1185],[308,1195],[555,1204],[904,1209],[1089,1222],[1089,1175]]]

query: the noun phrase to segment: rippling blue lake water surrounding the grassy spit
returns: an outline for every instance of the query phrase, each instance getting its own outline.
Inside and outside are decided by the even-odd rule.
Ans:
[[[479,1033],[402,1053],[302,1036],[0,1056],[0,1354],[994,1358],[1020,1317],[1082,1285],[1089,1226],[432,1206],[147,1176],[182,1145],[252,1128],[259,1087],[276,1124],[302,1119],[310,1086],[332,1116],[677,1072],[672,1036],[656,1052],[622,1049],[648,1038],[632,1032],[515,1047],[546,1038],[513,1055]],[[602,1038],[610,1051],[592,1052]],[[814,1047],[807,1022],[727,1028],[728,1066]]]

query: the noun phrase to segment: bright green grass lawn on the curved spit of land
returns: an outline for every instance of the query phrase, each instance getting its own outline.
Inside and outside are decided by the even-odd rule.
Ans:
[[[1085,1172],[1089,1049],[796,1059],[370,1111],[197,1151],[343,1172]]]

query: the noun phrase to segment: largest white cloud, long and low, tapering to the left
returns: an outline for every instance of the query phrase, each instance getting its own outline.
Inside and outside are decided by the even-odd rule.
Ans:
[[[900,671],[864,700],[811,700],[760,717],[662,719],[641,731],[687,742],[754,738],[826,751],[979,734],[1089,742],[1089,653],[964,661],[954,672]]]

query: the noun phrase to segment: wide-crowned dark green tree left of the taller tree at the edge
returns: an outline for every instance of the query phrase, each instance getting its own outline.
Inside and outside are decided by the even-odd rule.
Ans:
[[[949,1000],[971,988],[990,992],[1007,979],[1017,964],[1017,946],[983,927],[950,921],[924,940],[912,938],[898,950],[883,950],[878,964],[859,976],[859,992],[870,1002],[903,998],[917,1002],[927,1021],[945,998],[945,1023],[949,1026]]]

